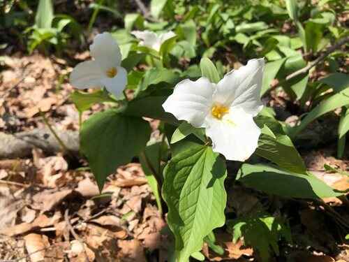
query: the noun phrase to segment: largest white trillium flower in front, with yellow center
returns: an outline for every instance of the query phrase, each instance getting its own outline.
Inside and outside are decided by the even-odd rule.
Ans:
[[[245,161],[258,146],[260,129],[253,121],[260,110],[264,59],[227,73],[218,84],[207,78],[183,80],[163,103],[166,112],[206,129],[212,149],[228,160]]]

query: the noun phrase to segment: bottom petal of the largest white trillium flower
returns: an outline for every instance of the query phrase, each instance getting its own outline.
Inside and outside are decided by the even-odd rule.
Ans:
[[[260,129],[242,108],[230,111],[221,120],[209,116],[207,124],[206,135],[212,140],[214,152],[234,161],[245,161],[255,152]]]

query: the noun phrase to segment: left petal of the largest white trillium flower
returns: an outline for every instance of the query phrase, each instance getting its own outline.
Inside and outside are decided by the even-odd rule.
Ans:
[[[173,94],[163,103],[166,112],[179,120],[186,120],[195,127],[204,127],[205,117],[212,105],[214,84],[207,78],[179,82]]]

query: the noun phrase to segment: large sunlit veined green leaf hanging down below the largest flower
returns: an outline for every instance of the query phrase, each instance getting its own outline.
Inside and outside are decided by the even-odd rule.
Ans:
[[[177,261],[188,261],[202,248],[203,239],[225,222],[225,163],[211,147],[199,145],[173,157],[164,174],[163,198]]]

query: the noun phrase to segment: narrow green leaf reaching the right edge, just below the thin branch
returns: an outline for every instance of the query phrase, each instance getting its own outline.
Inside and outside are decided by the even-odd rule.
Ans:
[[[295,128],[290,129],[290,136],[295,138],[303,129],[306,128],[308,124],[313,122],[316,118],[324,115],[327,112],[340,108],[343,105],[349,105],[349,88],[334,94],[329,97],[329,99],[322,101],[320,104],[316,105],[311,112],[302,119],[301,124]]]

